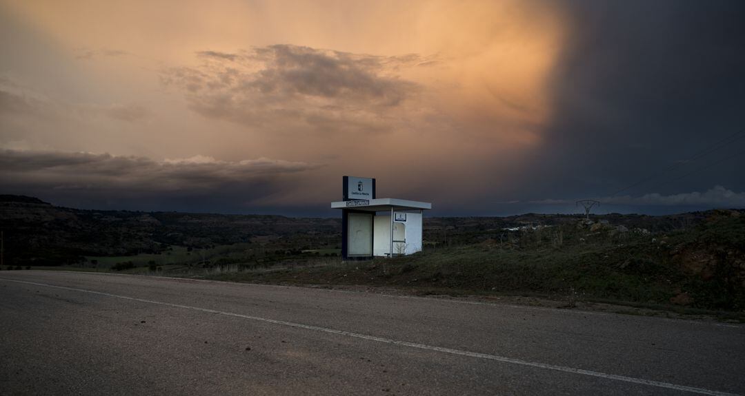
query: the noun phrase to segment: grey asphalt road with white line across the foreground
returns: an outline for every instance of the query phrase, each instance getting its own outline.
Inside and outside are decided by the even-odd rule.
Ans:
[[[0,272],[0,395],[745,395],[745,326]]]

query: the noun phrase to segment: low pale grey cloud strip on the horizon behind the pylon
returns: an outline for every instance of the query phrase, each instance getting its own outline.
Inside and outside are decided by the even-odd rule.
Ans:
[[[745,191],[735,191],[716,185],[707,191],[663,195],[659,193],[644,194],[639,197],[630,195],[604,197],[597,199],[604,205],[624,206],[706,206],[715,208],[745,207]],[[574,199],[540,199],[529,203],[540,205],[574,205]]]

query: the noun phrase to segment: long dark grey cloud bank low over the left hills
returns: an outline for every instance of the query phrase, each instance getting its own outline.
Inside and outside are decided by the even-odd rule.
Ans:
[[[110,154],[0,150],[0,190],[98,203],[120,197],[167,202],[226,194],[239,205],[276,194],[288,177],[314,167],[273,159],[226,162],[194,156],[156,162]]]

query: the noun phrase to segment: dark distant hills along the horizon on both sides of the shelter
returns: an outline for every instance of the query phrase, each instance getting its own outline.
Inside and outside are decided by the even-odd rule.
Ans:
[[[667,232],[705,220],[708,212],[670,216],[606,214],[592,216],[615,226]],[[470,244],[497,237],[507,228],[576,223],[580,215],[523,214],[511,217],[428,217],[425,241]],[[6,264],[63,265],[83,256],[159,253],[169,246],[194,248],[248,242],[252,237],[340,240],[338,218],[297,218],[255,214],[100,211],[63,208],[36,197],[0,195],[0,228]]]

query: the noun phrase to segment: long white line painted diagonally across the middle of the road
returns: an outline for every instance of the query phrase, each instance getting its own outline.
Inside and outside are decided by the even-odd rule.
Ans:
[[[33,284],[35,286],[42,286],[42,287],[54,287],[55,289],[71,290],[75,292],[95,294],[98,296],[121,298],[124,300],[139,301],[139,302],[145,302],[148,304],[162,305],[165,307],[184,308],[187,310],[196,310],[196,311],[206,312],[206,313],[216,313],[218,315],[233,316],[236,318],[249,319],[249,320],[254,320],[258,322],[272,323],[274,325],[289,326],[291,328],[302,328],[306,330],[321,331],[323,333],[332,333],[332,334],[337,334],[340,336],[349,336],[349,337],[354,337],[354,338],[359,338],[359,339],[367,339],[370,341],[384,342],[386,344],[392,344],[392,345],[401,345],[401,346],[405,346],[409,348],[424,349],[427,351],[437,351],[437,352],[443,352],[446,354],[460,355],[460,356],[466,356],[466,357],[475,357],[478,359],[485,359],[485,360],[496,360],[502,363],[527,365],[530,367],[545,368],[545,369],[554,370],[554,371],[563,371],[563,372],[571,373],[571,374],[582,374],[582,375],[588,375],[590,377],[600,377],[606,380],[617,380],[617,381],[623,381],[627,383],[637,383],[637,384],[647,385],[647,386],[656,386],[659,388],[674,389],[676,391],[697,393],[699,395],[737,396],[732,393],[712,391],[712,390],[703,389],[703,388],[694,388],[692,386],[676,385],[674,383],[663,383],[663,382],[653,381],[653,380],[644,380],[642,378],[625,377],[623,375],[605,374],[599,371],[583,370],[582,368],[565,367],[562,365],[551,365],[551,364],[546,364],[546,363],[529,362],[527,360],[513,359],[510,357],[501,357],[498,355],[480,354],[478,352],[461,351],[460,349],[451,349],[451,348],[438,347],[434,345],[417,344],[416,342],[399,341],[396,339],[388,339],[388,338],[383,338],[383,337],[378,337],[378,336],[369,336],[367,334],[352,333],[350,331],[335,330],[332,328],[321,328],[319,326],[303,325],[302,323],[285,322],[283,320],[261,318],[259,316],[243,315],[241,313],[225,312],[221,310],[210,310],[208,308],[192,307],[191,305],[172,304],[170,302],[165,302],[165,301],[153,301],[153,300],[147,300],[145,298],[121,296],[118,294],[97,292],[95,290],[78,289],[76,287],[57,286],[54,284],[42,284],[42,283],[29,282],[29,281],[17,281],[15,279],[7,279],[7,278],[0,278],[0,281],[16,282],[19,284]]]

